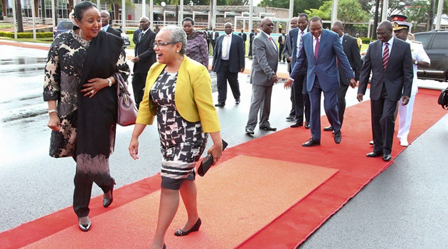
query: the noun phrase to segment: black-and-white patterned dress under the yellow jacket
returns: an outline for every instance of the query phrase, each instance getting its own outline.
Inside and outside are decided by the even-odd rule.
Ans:
[[[179,115],[174,102],[177,73],[163,71],[151,91],[157,107],[161,153],[162,188],[180,189],[184,180],[193,181],[194,167],[206,148],[208,134],[201,122],[188,122]]]

